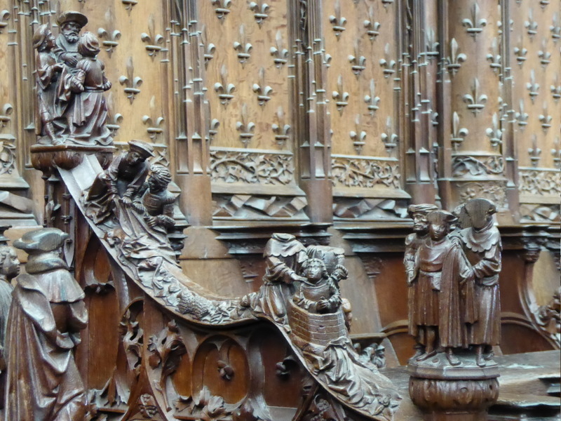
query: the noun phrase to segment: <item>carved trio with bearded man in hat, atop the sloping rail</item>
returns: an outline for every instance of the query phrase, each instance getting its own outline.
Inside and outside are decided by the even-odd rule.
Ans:
[[[68,11],[59,16],[60,34],[55,39],[48,25],[33,36],[36,55],[37,107],[35,133],[39,143],[60,145],[110,145],[104,91],[111,82],[97,59],[99,40],[80,30],[88,18]]]

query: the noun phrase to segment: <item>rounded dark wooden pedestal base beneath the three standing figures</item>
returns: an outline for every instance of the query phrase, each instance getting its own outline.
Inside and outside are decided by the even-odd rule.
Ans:
[[[424,411],[425,421],[485,421],[487,410],[499,397],[499,369],[494,361],[485,367],[475,356],[459,355],[451,366],[445,354],[426,361],[410,361],[409,394]]]

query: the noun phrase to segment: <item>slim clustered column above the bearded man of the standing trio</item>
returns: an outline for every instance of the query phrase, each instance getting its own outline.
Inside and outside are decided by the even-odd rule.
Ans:
[[[413,203],[435,201],[436,86],[438,71],[438,15],[435,0],[409,0],[405,28],[409,48],[407,74],[407,121],[409,135],[405,149],[405,189]],[[407,50],[405,50],[407,51]]]

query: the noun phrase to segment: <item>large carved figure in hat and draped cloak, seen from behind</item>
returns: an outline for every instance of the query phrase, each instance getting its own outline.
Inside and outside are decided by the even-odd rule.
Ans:
[[[5,419],[83,421],[86,396],[74,361],[88,314],[84,293],[57,250],[68,235],[27,232],[14,246],[29,253],[10,309]]]

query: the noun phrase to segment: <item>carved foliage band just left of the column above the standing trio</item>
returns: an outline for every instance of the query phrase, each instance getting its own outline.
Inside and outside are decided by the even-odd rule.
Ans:
[[[334,187],[400,188],[397,159],[365,158],[363,156],[332,155],[331,173]]]

